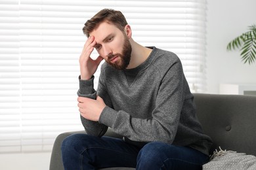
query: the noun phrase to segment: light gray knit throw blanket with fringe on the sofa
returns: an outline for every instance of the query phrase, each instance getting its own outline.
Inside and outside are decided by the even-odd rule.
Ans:
[[[203,170],[255,170],[256,157],[230,150],[213,152],[211,161],[203,165]]]

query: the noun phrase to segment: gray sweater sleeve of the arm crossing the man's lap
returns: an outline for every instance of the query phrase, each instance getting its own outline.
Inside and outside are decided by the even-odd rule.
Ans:
[[[99,122],[131,141],[173,143],[184,101],[184,82],[181,61],[177,60],[161,78],[151,118],[135,118],[123,110],[105,107]]]

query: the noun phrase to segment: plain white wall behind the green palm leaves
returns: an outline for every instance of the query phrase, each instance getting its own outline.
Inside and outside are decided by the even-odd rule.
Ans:
[[[244,64],[226,45],[256,24],[255,0],[207,0],[207,93],[219,84],[256,84],[256,62]]]

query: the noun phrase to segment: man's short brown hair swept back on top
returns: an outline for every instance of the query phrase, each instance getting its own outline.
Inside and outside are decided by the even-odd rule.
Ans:
[[[120,11],[113,9],[102,9],[98,13],[96,13],[95,16],[93,16],[93,18],[87,20],[85,26],[83,27],[83,33],[87,37],[89,37],[91,31],[96,29],[99,24],[105,21],[116,25],[116,27],[121,31],[123,31],[125,25],[127,25],[125,16],[123,16],[123,14]]]

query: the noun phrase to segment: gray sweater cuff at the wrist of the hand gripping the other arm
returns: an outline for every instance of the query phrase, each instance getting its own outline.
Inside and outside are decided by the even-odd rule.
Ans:
[[[102,110],[98,122],[108,127],[113,127],[114,122],[116,122],[116,116],[117,116],[117,111],[106,106]]]

